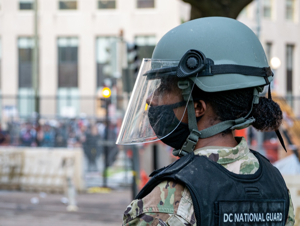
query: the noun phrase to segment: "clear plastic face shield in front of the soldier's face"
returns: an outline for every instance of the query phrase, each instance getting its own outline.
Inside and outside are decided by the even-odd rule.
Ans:
[[[178,64],[179,60],[143,59],[116,144],[157,141],[180,124],[187,103],[178,87]]]

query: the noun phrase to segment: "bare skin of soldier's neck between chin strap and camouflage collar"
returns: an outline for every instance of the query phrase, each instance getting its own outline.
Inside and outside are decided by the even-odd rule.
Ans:
[[[238,145],[238,142],[232,132],[226,135],[219,133],[208,138],[199,139],[194,150],[207,146],[235,147],[236,145]]]

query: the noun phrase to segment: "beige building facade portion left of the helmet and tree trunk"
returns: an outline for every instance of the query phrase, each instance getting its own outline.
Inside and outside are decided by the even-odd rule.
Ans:
[[[34,2],[0,0],[2,117],[35,109]],[[124,42],[155,46],[189,11],[181,0],[38,0],[41,115],[95,115],[110,44],[122,35]]]

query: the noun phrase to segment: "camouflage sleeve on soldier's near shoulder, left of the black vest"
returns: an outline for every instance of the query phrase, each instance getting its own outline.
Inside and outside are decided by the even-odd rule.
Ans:
[[[143,199],[130,203],[123,215],[123,225],[193,226],[188,221],[188,213],[178,215],[187,209],[186,201],[182,201],[184,190],[184,186],[173,181],[162,182]]]

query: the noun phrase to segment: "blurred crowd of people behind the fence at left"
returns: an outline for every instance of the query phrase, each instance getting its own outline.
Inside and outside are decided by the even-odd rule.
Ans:
[[[82,118],[18,120],[7,123],[7,129],[0,132],[0,145],[23,147],[82,147],[90,165],[104,151],[104,142],[116,141],[116,123]],[[109,162],[114,161],[117,146],[109,147]]]

